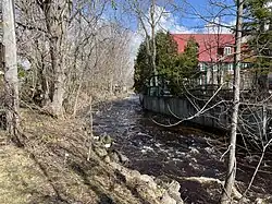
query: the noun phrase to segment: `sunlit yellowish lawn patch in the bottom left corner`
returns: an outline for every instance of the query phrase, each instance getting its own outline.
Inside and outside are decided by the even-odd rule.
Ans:
[[[2,146],[0,160],[0,203],[33,203],[35,194],[52,194],[41,170],[24,151]]]

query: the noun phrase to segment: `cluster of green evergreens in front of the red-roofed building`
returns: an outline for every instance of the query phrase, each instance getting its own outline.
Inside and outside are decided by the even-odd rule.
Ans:
[[[184,53],[177,53],[177,44],[170,33],[158,32],[156,35],[156,65],[159,75],[170,81],[173,95],[180,95],[181,82],[196,76],[198,64],[198,46],[194,38],[189,39]],[[146,41],[141,43],[135,61],[134,87],[143,92],[152,76],[152,70],[146,55]]]

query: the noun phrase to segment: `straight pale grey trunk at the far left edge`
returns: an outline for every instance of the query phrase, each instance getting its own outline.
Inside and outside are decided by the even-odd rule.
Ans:
[[[4,81],[7,130],[15,135],[18,128],[18,81],[16,62],[16,37],[14,25],[14,5],[12,0],[2,1]]]

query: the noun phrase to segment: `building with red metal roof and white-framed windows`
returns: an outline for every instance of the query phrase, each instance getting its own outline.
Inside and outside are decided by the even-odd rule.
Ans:
[[[232,77],[234,68],[235,35],[233,34],[172,34],[178,53],[184,52],[187,41],[198,44],[199,85],[222,84]],[[249,63],[243,63],[248,67]],[[228,86],[231,84],[228,83]]]

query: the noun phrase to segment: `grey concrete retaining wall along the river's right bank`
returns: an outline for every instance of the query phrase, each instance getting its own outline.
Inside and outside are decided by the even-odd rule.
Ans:
[[[181,119],[186,119],[197,113],[196,108],[186,98],[140,95],[140,101],[143,107],[147,110],[168,116],[175,115]],[[197,105],[201,108],[205,103],[201,104],[201,101],[198,101]],[[210,105],[210,107],[212,105]],[[249,108],[246,105],[240,105],[238,122],[239,133],[251,136],[252,140],[257,140],[256,136],[262,136],[264,116],[262,108],[262,106],[254,106]],[[232,117],[231,109],[231,106],[226,107],[226,105],[222,105],[220,107],[211,108],[209,111],[199,117],[195,117],[189,121],[203,127],[230,131]],[[268,108],[265,112],[267,118],[271,118],[272,108]],[[269,127],[272,127],[272,120],[267,124],[267,131]]]

